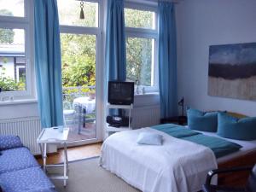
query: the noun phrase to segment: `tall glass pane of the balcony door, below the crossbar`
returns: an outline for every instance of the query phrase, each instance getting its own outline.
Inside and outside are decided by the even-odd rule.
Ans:
[[[62,33],[61,61],[68,141],[96,138],[96,36]]]

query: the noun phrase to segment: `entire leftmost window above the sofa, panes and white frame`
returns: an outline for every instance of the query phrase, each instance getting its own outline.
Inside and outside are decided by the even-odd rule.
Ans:
[[[33,97],[31,2],[0,0],[0,96]]]

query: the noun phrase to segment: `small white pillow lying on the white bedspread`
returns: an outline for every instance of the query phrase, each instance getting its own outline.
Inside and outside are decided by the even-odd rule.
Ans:
[[[137,137],[138,144],[161,145],[163,136],[152,132],[141,132]]]

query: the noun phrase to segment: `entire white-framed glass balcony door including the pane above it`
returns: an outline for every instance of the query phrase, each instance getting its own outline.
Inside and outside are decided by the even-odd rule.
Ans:
[[[98,66],[101,66],[100,3],[75,0],[58,1],[61,25],[61,66],[63,113],[69,127],[69,145],[101,141],[97,100]],[[80,19],[81,6],[84,19]],[[102,68],[102,67],[99,67]]]

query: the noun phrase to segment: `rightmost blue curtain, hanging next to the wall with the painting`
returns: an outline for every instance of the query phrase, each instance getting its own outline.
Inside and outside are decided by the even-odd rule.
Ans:
[[[160,2],[159,13],[159,87],[160,115],[177,115],[177,47],[174,3]]]

